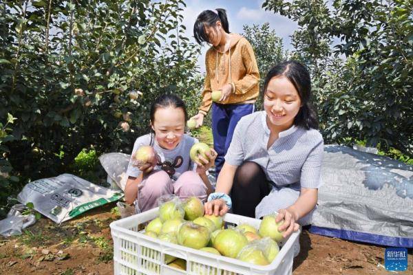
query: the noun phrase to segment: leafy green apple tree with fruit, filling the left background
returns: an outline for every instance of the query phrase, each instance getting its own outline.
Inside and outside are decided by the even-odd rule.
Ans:
[[[0,136],[1,201],[8,195],[3,182],[19,177],[12,185],[18,190],[30,179],[67,172],[83,148],[130,153],[149,130],[149,106],[162,93],[176,93],[195,109],[199,47],[183,35],[184,5],[0,4],[0,122],[7,124]]]

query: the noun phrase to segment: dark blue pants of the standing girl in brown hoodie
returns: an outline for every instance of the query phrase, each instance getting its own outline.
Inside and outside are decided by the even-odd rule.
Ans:
[[[212,104],[213,148],[218,156],[215,159],[215,177],[218,178],[225,154],[231,144],[235,126],[244,116],[253,113],[254,104]]]

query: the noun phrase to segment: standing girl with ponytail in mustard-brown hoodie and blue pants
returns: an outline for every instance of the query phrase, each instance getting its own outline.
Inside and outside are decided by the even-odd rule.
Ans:
[[[193,35],[199,44],[211,44],[205,57],[207,75],[202,104],[192,119],[201,126],[212,105],[213,148],[218,153],[215,175],[218,177],[237,122],[254,111],[260,92],[260,73],[251,44],[240,34],[229,32],[225,10],[201,12],[193,26]],[[212,103],[211,92],[215,90],[221,91],[221,98]]]

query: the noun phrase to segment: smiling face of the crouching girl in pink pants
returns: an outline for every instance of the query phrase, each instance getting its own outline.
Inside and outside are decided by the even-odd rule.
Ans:
[[[159,146],[172,150],[182,140],[185,129],[185,113],[182,108],[166,107],[156,109],[151,126]]]

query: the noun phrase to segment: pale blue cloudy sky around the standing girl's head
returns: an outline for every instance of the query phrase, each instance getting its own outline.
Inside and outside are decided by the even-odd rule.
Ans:
[[[289,36],[297,30],[297,23],[279,14],[264,11],[261,8],[263,2],[263,0],[187,0],[185,1],[187,8],[184,8],[182,13],[184,16],[182,23],[187,27],[186,35],[191,38],[193,43],[196,43],[195,39],[193,39],[193,23],[195,23],[198,14],[203,10],[224,8],[229,20],[230,32],[242,33],[243,25],[261,25],[262,23],[268,22],[277,35],[283,39],[284,47],[291,49]],[[201,56],[198,59],[201,72],[205,72],[205,52],[207,52],[207,45],[202,48]]]

